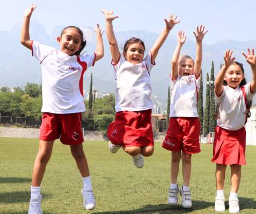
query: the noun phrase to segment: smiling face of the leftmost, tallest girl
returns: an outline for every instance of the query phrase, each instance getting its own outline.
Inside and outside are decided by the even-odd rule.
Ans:
[[[81,49],[82,37],[75,28],[67,28],[57,37],[57,42],[60,44],[60,50],[69,56],[74,55]]]

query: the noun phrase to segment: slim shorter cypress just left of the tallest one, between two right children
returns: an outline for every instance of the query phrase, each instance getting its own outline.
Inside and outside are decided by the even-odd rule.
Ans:
[[[203,136],[209,133],[210,128],[210,85],[209,85],[209,74],[206,74],[206,106],[204,109],[204,119],[203,119]]]

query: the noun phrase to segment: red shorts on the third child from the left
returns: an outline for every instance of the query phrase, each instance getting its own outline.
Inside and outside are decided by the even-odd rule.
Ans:
[[[200,150],[200,122],[196,117],[171,117],[162,147],[196,154]]]

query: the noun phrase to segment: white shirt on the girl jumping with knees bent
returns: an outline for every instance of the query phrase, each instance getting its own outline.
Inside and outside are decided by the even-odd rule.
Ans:
[[[112,64],[113,65],[113,64]],[[141,63],[133,65],[120,56],[114,64],[116,80],[115,111],[142,111],[153,108],[151,101],[150,71],[155,65],[151,63],[148,52]]]

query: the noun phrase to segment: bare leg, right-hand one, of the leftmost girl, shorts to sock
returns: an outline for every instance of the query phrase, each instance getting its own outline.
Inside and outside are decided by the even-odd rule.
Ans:
[[[75,158],[78,170],[80,171],[82,177],[90,176],[89,166],[84,154],[83,144],[70,145],[70,150],[72,156]]]

